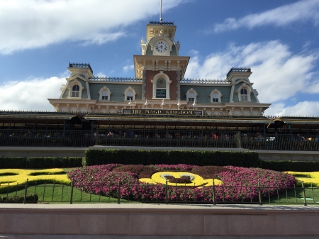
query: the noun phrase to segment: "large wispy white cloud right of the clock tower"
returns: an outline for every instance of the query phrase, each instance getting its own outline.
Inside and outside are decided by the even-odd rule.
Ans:
[[[252,67],[250,81],[259,91],[259,101],[274,103],[297,92],[319,94],[318,74],[311,72],[319,55],[293,55],[279,40],[250,45],[230,45],[225,52],[208,55],[204,60],[191,58],[185,77],[223,78],[233,67]],[[277,102],[278,103],[278,102]]]

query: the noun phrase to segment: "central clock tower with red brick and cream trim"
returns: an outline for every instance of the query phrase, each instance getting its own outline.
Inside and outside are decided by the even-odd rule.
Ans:
[[[146,41],[140,43],[142,55],[133,56],[135,77],[142,79],[142,101],[147,101],[150,108],[158,108],[160,101],[167,102],[164,108],[175,108],[181,100],[180,80],[190,57],[179,55],[181,46],[174,40],[176,28],[172,22],[150,21]]]

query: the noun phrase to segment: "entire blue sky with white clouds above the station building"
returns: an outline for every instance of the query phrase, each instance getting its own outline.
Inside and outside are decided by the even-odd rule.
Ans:
[[[186,77],[225,79],[252,67],[265,115],[319,116],[318,0],[162,0],[177,25]],[[0,0],[0,109],[53,110],[69,62],[133,77],[159,0]]]

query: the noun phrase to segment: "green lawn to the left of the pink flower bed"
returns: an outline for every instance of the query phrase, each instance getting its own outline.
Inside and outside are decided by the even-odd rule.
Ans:
[[[12,191],[14,190],[14,191]],[[8,193],[9,196],[24,195],[24,187],[13,187]],[[38,203],[49,203],[49,204],[68,204],[71,198],[71,187],[68,185],[61,184],[40,184],[37,187],[30,186],[27,190],[28,194],[38,194]],[[0,194],[0,196],[6,196],[7,194]],[[99,196],[95,194],[87,194],[82,192],[75,187],[73,188],[73,204],[89,204],[89,203],[117,203],[118,199]],[[121,203],[129,202],[122,200]],[[130,202],[132,203],[132,202]],[[133,202],[135,203],[135,202]]]

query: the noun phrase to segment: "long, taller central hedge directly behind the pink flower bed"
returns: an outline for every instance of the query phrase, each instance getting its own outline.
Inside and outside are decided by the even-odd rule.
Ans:
[[[86,150],[84,166],[123,165],[233,165],[261,167],[257,152],[192,150]]]

